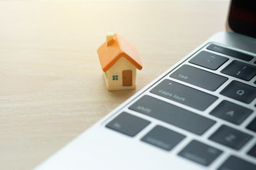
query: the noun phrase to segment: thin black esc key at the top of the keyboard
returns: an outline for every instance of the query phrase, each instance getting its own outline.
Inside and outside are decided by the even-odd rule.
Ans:
[[[233,58],[243,59],[244,61],[250,61],[253,59],[253,56],[248,54],[244,54],[242,52],[238,52],[236,50],[227,49],[225,47],[221,47],[219,45],[211,44],[207,47],[208,50],[213,50],[216,52],[220,52],[221,54],[226,54],[227,56],[231,56]]]

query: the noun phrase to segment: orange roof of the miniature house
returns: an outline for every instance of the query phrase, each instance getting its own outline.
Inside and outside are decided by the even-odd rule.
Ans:
[[[132,65],[139,70],[142,69],[140,56],[136,48],[120,35],[114,35],[110,42],[104,42],[97,50],[100,59],[100,65],[103,72],[106,72],[113,66],[118,59],[125,57]]]

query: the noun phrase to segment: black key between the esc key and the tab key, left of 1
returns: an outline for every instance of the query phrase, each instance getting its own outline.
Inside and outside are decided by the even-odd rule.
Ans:
[[[211,52],[201,51],[194,58],[189,60],[189,63],[195,65],[204,66],[211,70],[217,70],[223,63],[225,63],[228,58],[212,54]]]

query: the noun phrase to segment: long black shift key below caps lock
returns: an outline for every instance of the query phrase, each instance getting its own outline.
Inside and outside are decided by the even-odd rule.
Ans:
[[[141,97],[129,109],[198,135],[202,135],[216,122],[148,95]]]

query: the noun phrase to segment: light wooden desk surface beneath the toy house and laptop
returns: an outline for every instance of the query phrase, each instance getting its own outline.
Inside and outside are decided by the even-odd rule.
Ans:
[[[227,1],[0,1],[0,169],[32,169],[209,36]],[[137,89],[106,90],[106,31],[134,44]]]

